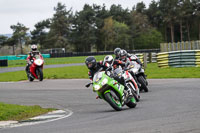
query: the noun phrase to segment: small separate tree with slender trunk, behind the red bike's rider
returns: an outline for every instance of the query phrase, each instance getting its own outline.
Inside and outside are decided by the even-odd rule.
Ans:
[[[17,25],[11,25],[10,28],[13,30],[12,39],[21,46],[21,54],[23,54],[23,44],[26,44],[26,42],[29,40],[29,37],[26,33],[29,28],[25,27],[21,23],[17,23]]]

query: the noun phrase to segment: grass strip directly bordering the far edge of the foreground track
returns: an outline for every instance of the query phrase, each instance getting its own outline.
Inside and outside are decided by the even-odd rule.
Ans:
[[[200,78],[199,67],[159,68],[157,63],[149,63],[145,73],[147,78]],[[44,69],[45,79],[88,78],[88,69],[84,66],[71,66]],[[27,80],[25,71],[0,73],[0,81]]]

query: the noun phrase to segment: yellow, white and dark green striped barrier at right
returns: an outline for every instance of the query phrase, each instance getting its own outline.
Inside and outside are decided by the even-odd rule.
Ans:
[[[200,50],[183,50],[157,54],[159,67],[200,67]]]

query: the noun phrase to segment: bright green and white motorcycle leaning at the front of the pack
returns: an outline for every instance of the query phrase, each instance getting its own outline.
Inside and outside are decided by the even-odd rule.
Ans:
[[[98,97],[107,101],[116,111],[121,111],[124,105],[135,108],[136,99],[128,95],[122,84],[108,75],[110,75],[109,71],[96,72],[93,82],[86,86],[89,87],[90,84],[93,84],[93,91],[97,92]]]

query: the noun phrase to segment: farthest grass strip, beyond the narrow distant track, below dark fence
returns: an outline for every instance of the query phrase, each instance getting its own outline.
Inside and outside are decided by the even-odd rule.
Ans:
[[[63,57],[63,58],[45,58],[45,65],[53,64],[72,64],[72,63],[84,63],[87,56],[79,57]],[[105,55],[95,56],[99,60],[103,60]],[[26,60],[9,60],[8,67],[21,67],[26,66]]]

